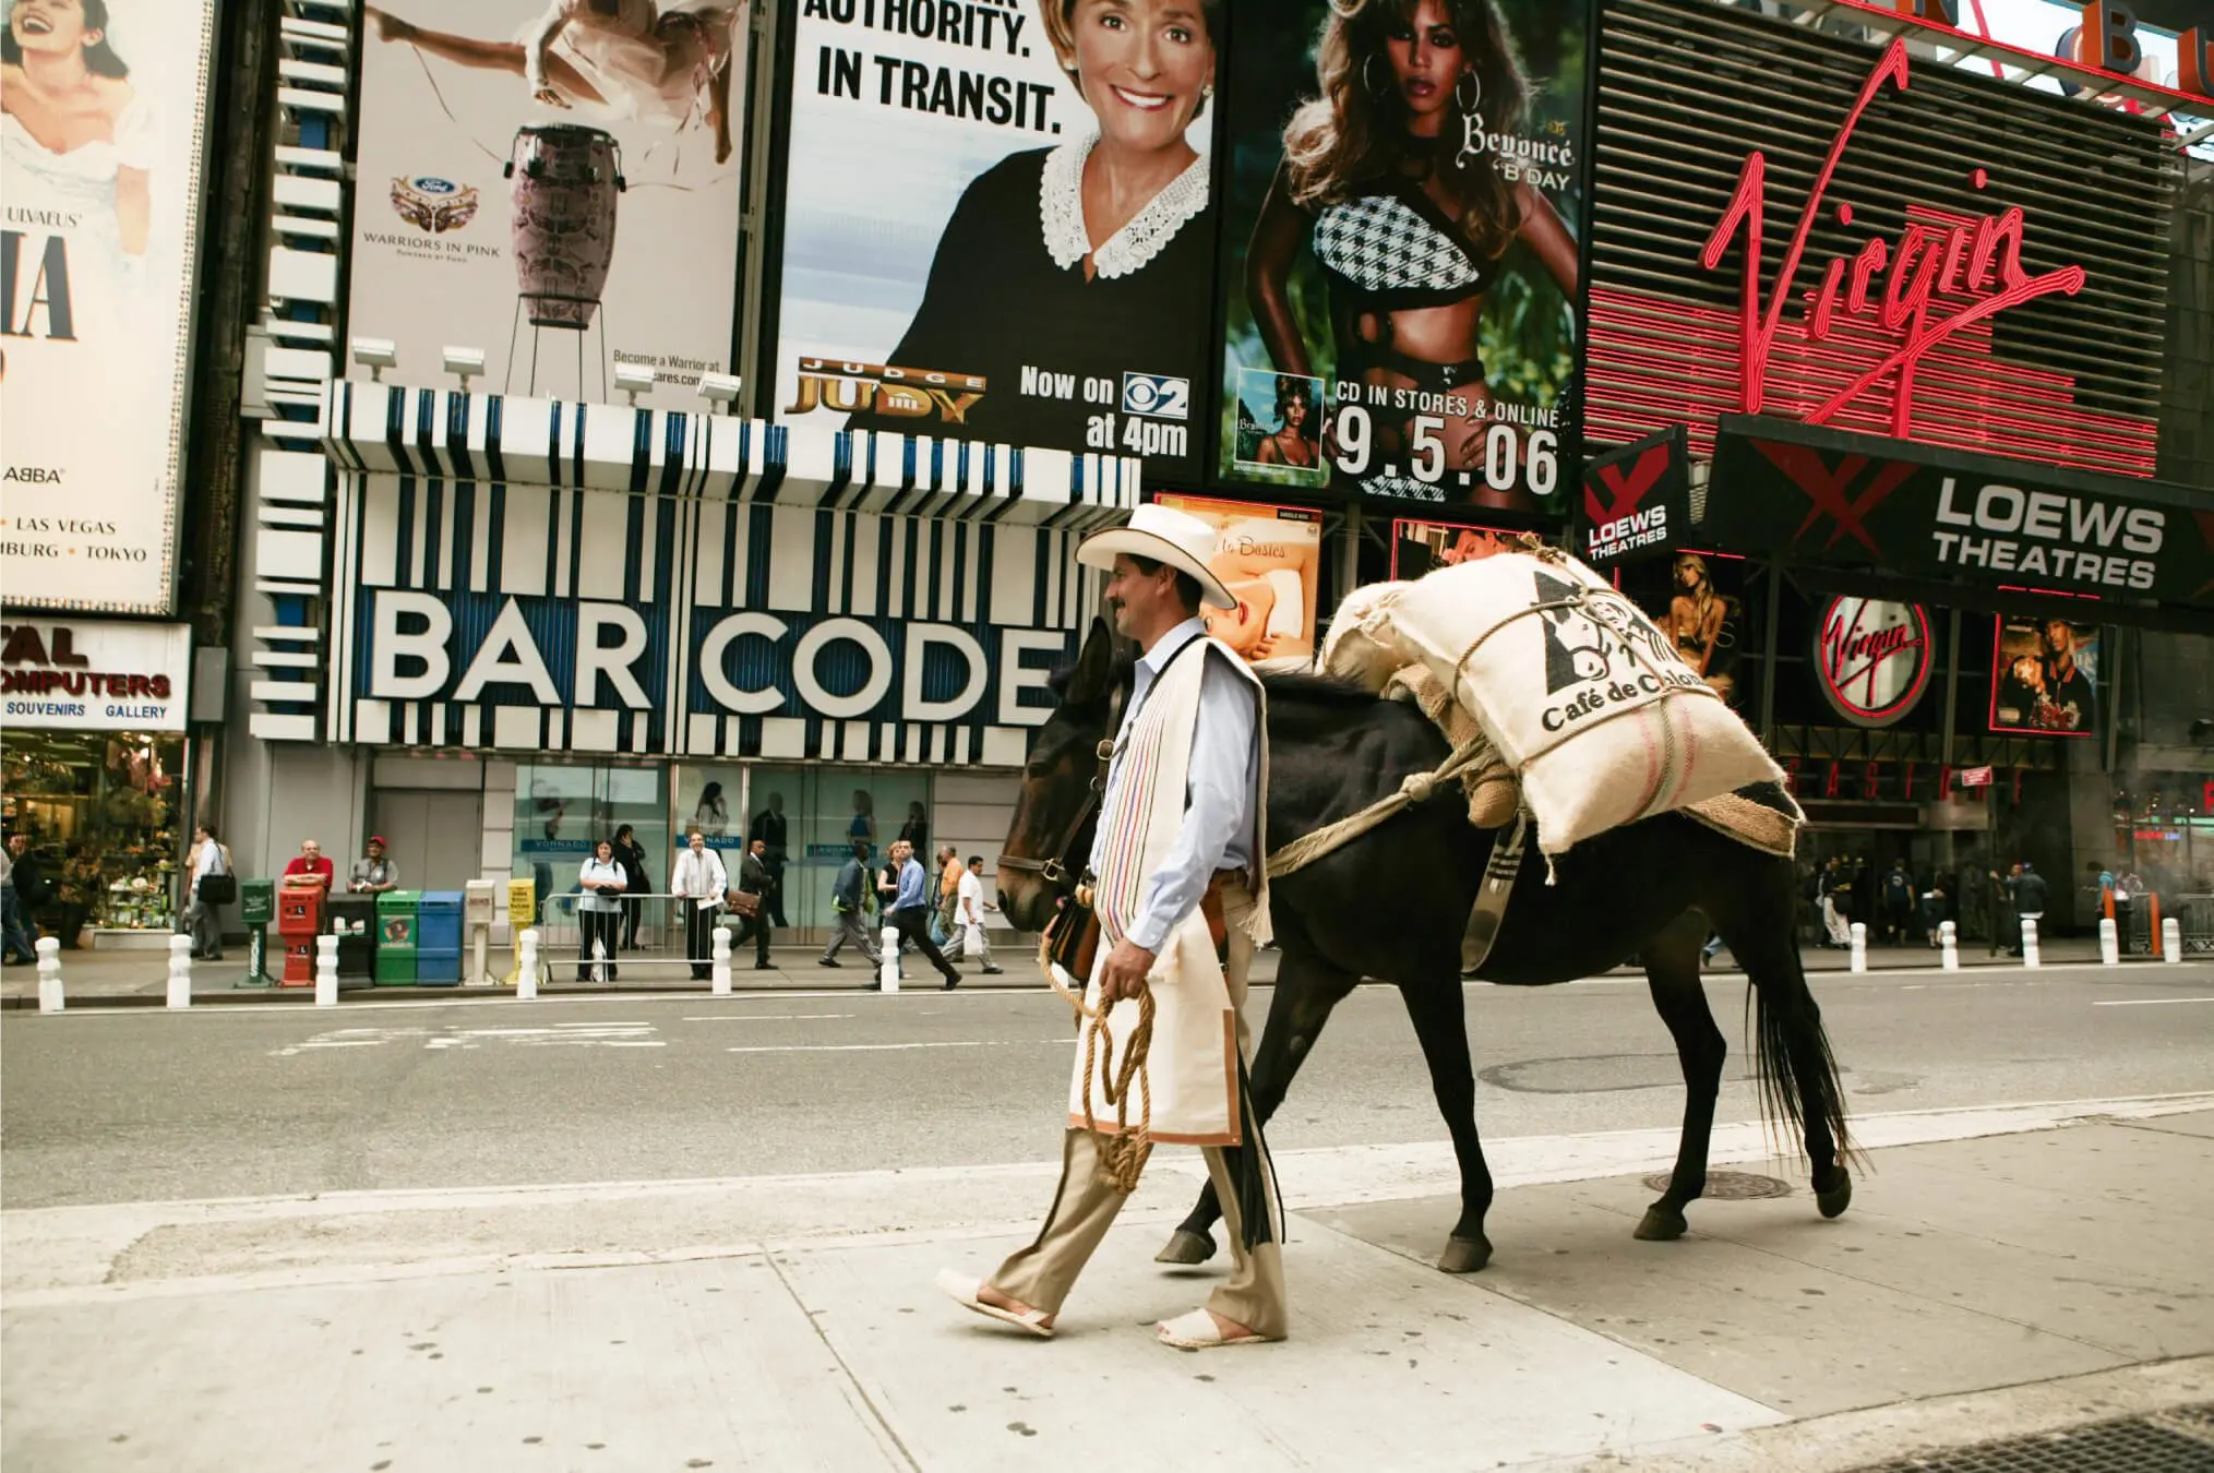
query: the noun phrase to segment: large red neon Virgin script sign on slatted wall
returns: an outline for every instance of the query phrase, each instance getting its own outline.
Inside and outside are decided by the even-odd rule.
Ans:
[[[1791,248],[1784,250],[1776,281],[1767,290],[1767,301],[1762,301],[1760,281],[1762,215],[1769,175],[1765,153],[1753,151],[1745,155],[1745,164],[1738,168],[1738,188],[1700,253],[1700,266],[1716,270],[1731,239],[1740,230],[1745,235],[1738,328],[1740,399],[1747,414],[1758,414],[1767,396],[1769,350],[1782,330],[1784,301],[1791,297],[1791,284],[1807,255],[1807,237],[1822,213],[1822,195],[1838,171],[1838,159],[1844,157],[1844,148],[1853,140],[1853,128],[1860,126],[1860,117],[1869,111],[1884,82],[1891,82],[1897,91],[1906,91],[1904,40],[1891,42],[1875,71],[1862,82],[1853,109],[1844,115],[1844,126],[1838,128],[1838,137],[1822,159],[1822,171],[1813,179],[1807,204],[1800,208],[1798,230],[1791,235]],[[1975,188],[1984,188],[1990,179],[1982,168],[1975,168],[1968,182]],[[1840,226],[1851,226],[1853,206],[1840,202],[1835,219]],[[1915,368],[1944,339],[2024,301],[2052,292],[2068,297],[2079,292],[2083,288],[2081,266],[2063,266],[2041,277],[2021,270],[2021,206],[2015,206],[1948,228],[1908,224],[1897,241],[1871,235],[1851,257],[1829,261],[1822,270],[1822,286],[1815,292],[1813,308],[1802,323],[1807,341],[1820,343],[1831,337],[1842,312],[1864,323],[1877,323],[1884,332],[1897,334],[1900,343],[1824,403],[1815,405],[1807,414],[1807,423],[1820,425],[1829,421],[1838,410],[1891,377],[1891,432],[1906,439],[1913,434]],[[1935,310],[1939,301],[1953,310],[1939,317]]]

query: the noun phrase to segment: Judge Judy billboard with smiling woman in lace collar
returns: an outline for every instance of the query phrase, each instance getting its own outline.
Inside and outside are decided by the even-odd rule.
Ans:
[[[801,7],[779,421],[1198,481],[1215,7],[1072,9]]]

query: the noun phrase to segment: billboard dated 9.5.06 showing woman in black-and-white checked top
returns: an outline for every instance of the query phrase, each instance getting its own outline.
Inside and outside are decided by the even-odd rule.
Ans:
[[[1590,18],[1238,0],[1222,419],[1238,485],[1552,514],[1574,434]]]

